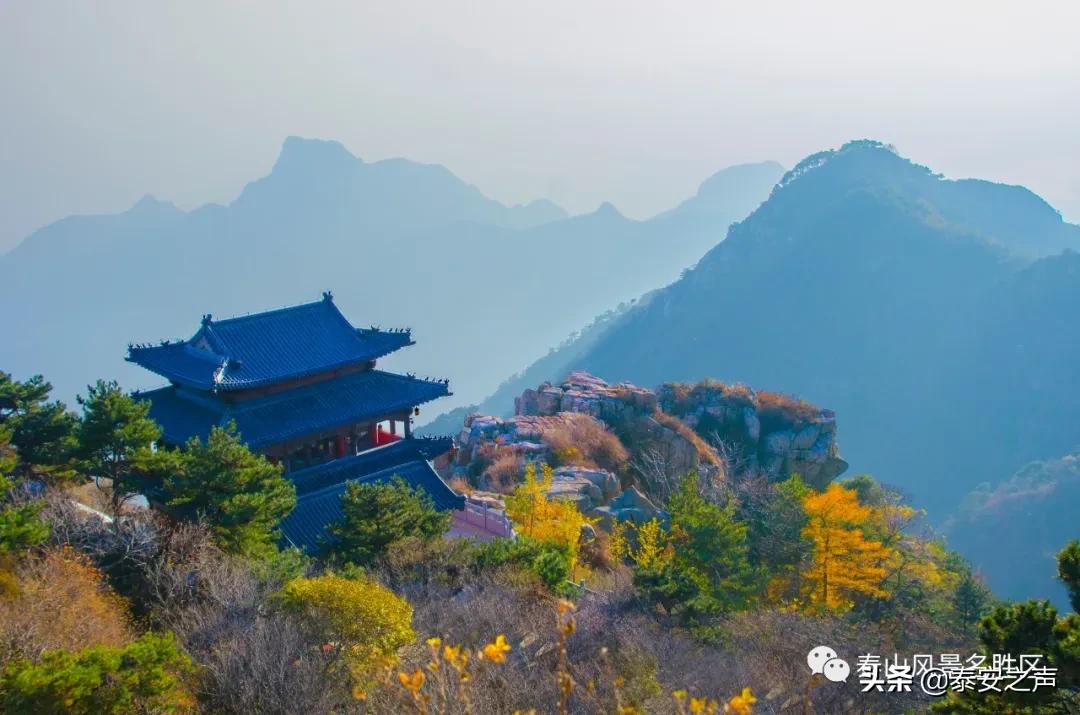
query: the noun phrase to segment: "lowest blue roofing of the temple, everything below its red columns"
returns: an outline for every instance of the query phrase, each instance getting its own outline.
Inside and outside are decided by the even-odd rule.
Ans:
[[[283,541],[308,553],[319,551],[329,538],[326,527],[341,518],[341,495],[350,482],[377,484],[401,477],[409,486],[426,491],[438,510],[463,509],[464,497],[454,491],[426,458],[431,450],[448,443],[449,440],[403,440],[289,474],[296,483],[297,501],[280,525]]]

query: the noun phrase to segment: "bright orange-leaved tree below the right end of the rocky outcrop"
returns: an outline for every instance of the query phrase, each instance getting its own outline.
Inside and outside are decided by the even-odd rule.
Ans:
[[[807,494],[802,508],[807,514],[802,536],[813,544],[813,566],[806,575],[810,602],[845,608],[855,595],[888,596],[882,581],[892,550],[866,534],[879,524],[875,510],[839,484]]]

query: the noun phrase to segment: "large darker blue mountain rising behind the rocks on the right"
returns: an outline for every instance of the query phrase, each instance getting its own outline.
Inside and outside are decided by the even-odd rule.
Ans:
[[[853,141],[800,162],[680,280],[480,409],[571,367],[788,392],[836,409],[852,472],[940,521],[976,485],[1080,443],[1075,248],[1080,227],[1023,187],[947,180]]]

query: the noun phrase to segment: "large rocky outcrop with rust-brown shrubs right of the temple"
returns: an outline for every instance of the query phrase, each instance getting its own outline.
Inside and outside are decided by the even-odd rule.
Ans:
[[[514,407],[509,418],[465,419],[454,470],[481,489],[507,491],[529,462],[554,464],[549,494],[602,524],[664,517],[649,496],[621,484],[663,500],[691,471],[713,483],[799,473],[823,487],[847,468],[832,412],[744,386],[669,383],[652,391],[576,372],[526,390]],[[610,443],[621,455],[605,461]]]

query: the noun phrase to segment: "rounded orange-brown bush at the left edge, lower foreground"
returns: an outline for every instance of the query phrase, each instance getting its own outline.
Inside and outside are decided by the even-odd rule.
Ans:
[[[17,592],[0,597],[0,662],[45,650],[126,645],[127,609],[85,556],[70,548],[25,562]]]

